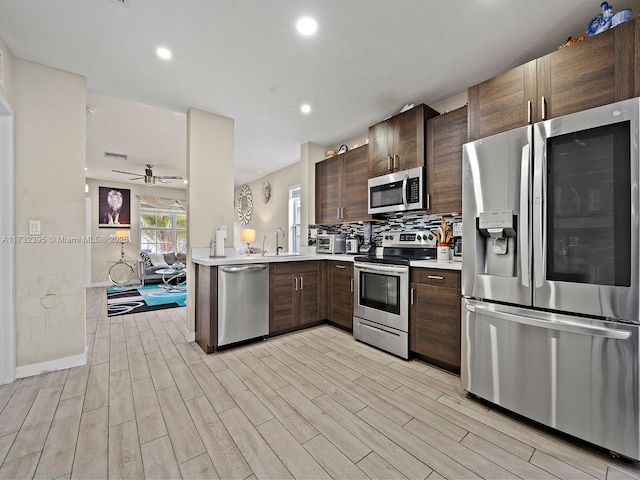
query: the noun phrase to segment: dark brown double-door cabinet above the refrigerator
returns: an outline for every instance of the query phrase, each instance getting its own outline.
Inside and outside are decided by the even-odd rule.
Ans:
[[[638,28],[636,18],[470,87],[469,141],[640,96]]]

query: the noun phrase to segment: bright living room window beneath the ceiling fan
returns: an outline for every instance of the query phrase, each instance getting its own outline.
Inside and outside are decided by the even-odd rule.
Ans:
[[[187,212],[180,206],[155,208],[140,202],[140,250],[187,253]]]

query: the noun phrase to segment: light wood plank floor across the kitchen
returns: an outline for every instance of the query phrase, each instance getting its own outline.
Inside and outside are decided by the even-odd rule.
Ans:
[[[86,366],[0,386],[0,478],[639,478],[323,326],[205,355],[184,309],[107,318]]]

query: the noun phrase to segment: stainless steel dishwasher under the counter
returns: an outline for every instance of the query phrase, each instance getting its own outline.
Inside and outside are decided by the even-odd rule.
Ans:
[[[218,267],[218,346],[269,334],[269,266]]]

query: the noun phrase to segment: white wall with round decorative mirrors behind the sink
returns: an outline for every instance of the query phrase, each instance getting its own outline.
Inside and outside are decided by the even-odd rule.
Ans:
[[[263,203],[260,197],[260,189],[262,182],[267,180],[271,185],[271,199],[268,203]],[[265,241],[265,249],[268,252],[276,251],[276,229],[281,227],[286,233],[286,238],[280,237],[278,243],[284,247],[283,251],[288,250],[289,242],[289,187],[300,183],[300,162],[270,173],[265,177],[259,178],[248,183],[253,195],[253,214],[247,225],[241,225],[238,221],[236,208],[234,212],[234,244],[236,249],[246,247],[246,244],[240,240],[240,232],[243,228],[253,228],[256,230],[256,241],[253,247],[262,249],[262,241]],[[240,188],[234,192],[235,201],[238,201]],[[281,234],[280,234],[281,235]]]

